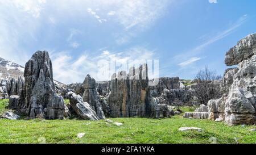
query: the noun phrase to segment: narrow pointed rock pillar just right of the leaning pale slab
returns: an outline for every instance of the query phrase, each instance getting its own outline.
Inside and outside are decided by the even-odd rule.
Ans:
[[[96,112],[98,118],[105,119],[104,111],[102,110],[100,103],[100,95],[96,91],[96,81],[87,75],[84,79],[84,93],[82,99],[84,102],[88,102],[92,106],[93,110]]]

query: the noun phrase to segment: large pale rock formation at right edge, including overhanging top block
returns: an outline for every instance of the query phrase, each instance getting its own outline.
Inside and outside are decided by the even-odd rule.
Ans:
[[[229,79],[228,93],[209,100],[209,118],[223,119],[227,124],[255,124],[256,55],[255,34],[246,36],[226,53],[226,65],[236,65]],[[228,74],[230,71],[226,72]],[[233,78],[232,78],[233,77]],[[230,83],[232,84],[230,85]]]

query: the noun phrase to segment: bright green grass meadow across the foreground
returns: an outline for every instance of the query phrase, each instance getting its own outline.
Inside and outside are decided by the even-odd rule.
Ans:
[[[2,101],[1,108],[2,106]],[[181,110],[190,111],[188,107]],[[256,143],[255,126],[229,127],[210,120],[183,119],[181,115],[169,119],[115,118],[122,126],[89,120],[7,120],[0,119],[0,143]],[[203,132],[180,132],[180,127],[199,127]],[[85,136],[77,138],[77,133]]]

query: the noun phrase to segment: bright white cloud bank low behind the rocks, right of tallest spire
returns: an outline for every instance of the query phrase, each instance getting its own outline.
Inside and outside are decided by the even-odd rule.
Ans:
[[[82,82],[87,74],[90,74],[96,81],[110,80],[112,73],[108,76],[99,74],[106,72],[106,66],[99,66],[98,62],[110,62],[115,60],[117,64],[124,64],[129,60],[134,63],[143,62],[140,60],[151,60],[155,53],[143,47],[134,47],[123,52],[101,51],[98,56],[89,56],[89,52],[74,57],[70,52],[51,53],[53,76],[57,81],[64,83]],[[124,70],[123,66],[117,68],[116,72]]]

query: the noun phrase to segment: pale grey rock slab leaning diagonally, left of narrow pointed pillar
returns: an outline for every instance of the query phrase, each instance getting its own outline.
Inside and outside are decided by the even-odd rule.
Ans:
[[[100,120],[96,112],[90,107],[90,104],[84,102],[80,95],[76,95],[73,92],[68,93],[68,98],[71,104],[71,111],[74,111],[81,119],[86,120]]]

